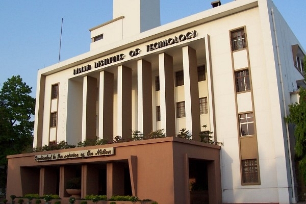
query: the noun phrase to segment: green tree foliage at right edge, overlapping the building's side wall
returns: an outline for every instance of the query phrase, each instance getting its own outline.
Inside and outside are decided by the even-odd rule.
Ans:
[[[295,155],[299,172],[306,182],[306,90],[300,88],[299,96],[299,103],[289,105],[290,115],[285,120],[295,124]]]

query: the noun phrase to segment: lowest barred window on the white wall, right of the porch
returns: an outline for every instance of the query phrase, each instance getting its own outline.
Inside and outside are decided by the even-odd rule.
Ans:
[[[257,159],[242,160],[242,183],[259,183]]]

